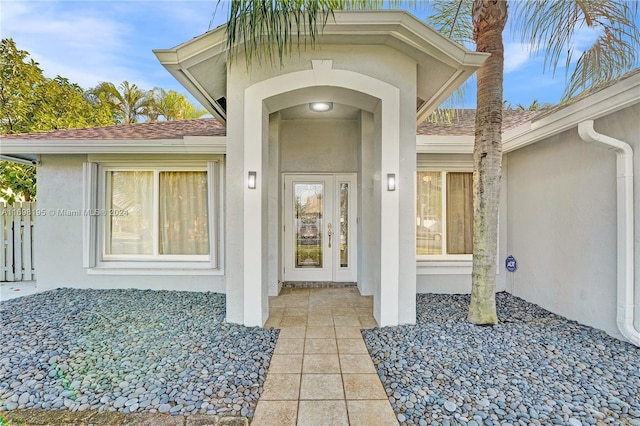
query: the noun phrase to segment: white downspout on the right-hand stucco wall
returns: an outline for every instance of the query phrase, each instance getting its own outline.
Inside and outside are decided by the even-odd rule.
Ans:
[[[617,222],[618,222],[618,284],[617,323],[622,335],[640,346],[640,332],[633,325],[633,150],[618,139],[600,134],[593,128],[593,120],[578,124],[578,134],[585,142],[599,142],[616,151]]]

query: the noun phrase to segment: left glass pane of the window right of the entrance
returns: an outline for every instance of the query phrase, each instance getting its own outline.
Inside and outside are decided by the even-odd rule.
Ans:
[[[418,172],[416,254],[442,254],[442,173]]]

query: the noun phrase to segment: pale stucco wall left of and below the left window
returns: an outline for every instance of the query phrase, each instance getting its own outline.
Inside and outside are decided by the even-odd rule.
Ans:
[[[38,167],[38,209],[81,211],[86,155],[43,155]],[[89,275],[82,266],[82,217],[37,217],[35,267],[38,291],[60,287],[140,288],[224,293],[224,277],[202,275]]]

